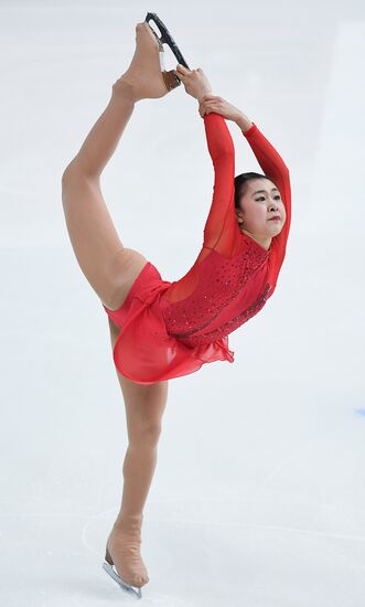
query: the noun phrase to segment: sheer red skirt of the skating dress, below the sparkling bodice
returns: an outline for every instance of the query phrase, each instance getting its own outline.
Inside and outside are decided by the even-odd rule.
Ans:
[[[228,336],[191,348],[167,332],[163,309],[170,302],[163,292],[171,284],[162,280],[155,266],[147,262],[118,310],[103,305],[120,327],[112,351],[115,365],[138,384],[187,375],[208,362],[234,362],[235,352],[228,348]]]

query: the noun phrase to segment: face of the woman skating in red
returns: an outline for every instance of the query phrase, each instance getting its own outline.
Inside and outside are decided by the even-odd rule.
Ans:
[[[269,179],[250,179],[239,204],[236,214],[241,232],[262,242],[281,232],[287,219],[286,207],[278,188]],[[277,215],[280,215],[278,221],[270,221]]]

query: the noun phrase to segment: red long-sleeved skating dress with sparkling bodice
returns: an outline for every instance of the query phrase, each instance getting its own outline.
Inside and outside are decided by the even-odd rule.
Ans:
[[[253,126],[244,136],[262,171],[280,191],[287,219],[266,251],[240,232],[236,219],[235,149],[222,115],[204,116],[214,166],[214,190],[202,249],[185,276],[170,283],[148,262],[118,310],[104,306],[120,327],[114,347],[118,371],[140,384],[197,371],[204,363],[234,362],[228,334],[255,316],[273,294],[291,221],[289,170]]]

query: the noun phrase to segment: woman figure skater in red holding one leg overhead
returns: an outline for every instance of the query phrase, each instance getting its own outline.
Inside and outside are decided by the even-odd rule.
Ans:
[[[214,188],[196,262],[171,283],[140,252],[124,246],[101,195],[100,174],[135,104],[163,97],[181,83],[198,102]],[[225,118],[239,127],[264,174],[235,177]],[[140,553],[143,508],[157,465],[169,380],[205,363],[234,362],[228,334],[273,294],[290,226],[289,171],[257,125],[212,94],[201,68],[178,64],[170,73],[162,70],[160,44],[144,21],[136,26],[129,68],[114,83],[106,109],[63,173],[62,200],[77,262],[108,315],[126,406],[122,499],[105,565],[125,589],[136,587],[141,597],[140,588],[149,582]]]

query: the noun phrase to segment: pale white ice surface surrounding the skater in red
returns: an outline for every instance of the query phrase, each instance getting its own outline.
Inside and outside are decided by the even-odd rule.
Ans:
[[[277,289],[235,363],[170,381],[144,509],[146,605],[361,607],[365,596],[363,2],[0,2],[0,597],[128,601],[101,569],[127,430],[107,316],[61,175],[157,12],[290,169]],[[167,67],[176,62],[167,47]],[[236,174],[260,170],[227,123]],[[101,177],[125,246],[192,266],[213,166],[183,86],[136,105]]]

